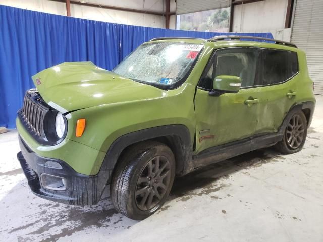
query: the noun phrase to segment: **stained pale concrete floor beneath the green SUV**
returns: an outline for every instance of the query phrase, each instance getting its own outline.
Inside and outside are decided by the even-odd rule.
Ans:
[[[0,135],[0,240],[323,241],[323,96],[304,149],[254,151],[175,180],[143,221],[118,214],[107,192],[95,206],[32,194],[16,160],[17,132]]]

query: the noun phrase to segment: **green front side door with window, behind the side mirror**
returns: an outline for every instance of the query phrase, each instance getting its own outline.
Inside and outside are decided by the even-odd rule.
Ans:
[[[195,95],[196,153],[241,140],[256,132],[260,93],[254,88],[258,48],[224,48],[214,52]],[[219,75],[239,76],[238,93],[210,96],[212,81]]]

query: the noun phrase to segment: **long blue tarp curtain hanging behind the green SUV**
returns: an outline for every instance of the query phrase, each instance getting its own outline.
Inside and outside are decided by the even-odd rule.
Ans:
[[[67,61],[92,61],[111,70],[141,43],[156,37],[211,38],[229,33],[139,27],[77,19],[0,5],[0,126],[15,128],[31,76]],[[248,33],[273,38],[271,33]]]

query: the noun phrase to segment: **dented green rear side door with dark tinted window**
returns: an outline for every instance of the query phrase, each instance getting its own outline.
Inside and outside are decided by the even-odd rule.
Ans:
[[[260,52],[259,78],[255,82],[260,98],[256,133],[273,133],[278,131],[295,103],[299,78],[297,53],[278,49]]]

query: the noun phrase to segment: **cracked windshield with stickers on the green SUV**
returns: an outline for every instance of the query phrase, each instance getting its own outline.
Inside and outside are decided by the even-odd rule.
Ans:
[[[113,72],[154,86],[174,86],[192,67],[202,44],[159,42],[139,46]]]

